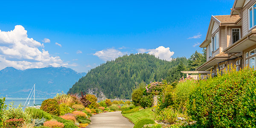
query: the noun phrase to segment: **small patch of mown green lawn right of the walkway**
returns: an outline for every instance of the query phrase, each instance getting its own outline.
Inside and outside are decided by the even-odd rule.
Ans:
[[[143,109],[134,113],[126,113],[122,114],[126,118],[130,119],[134,124],[138,122],[140,119],[153,119],[154,120],[154,112],[151,110],[152,108]]]

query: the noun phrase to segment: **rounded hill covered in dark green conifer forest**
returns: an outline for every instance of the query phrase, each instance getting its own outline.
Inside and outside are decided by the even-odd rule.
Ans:
[[[138,84],[165,79],[170,69],[177,67],[180,62],[184,67],[188,65],[185,57],[163,61],[145,53],[124,55],[90,70],[68,93],[85,91],[99,98],[131,99],[131,92]]]

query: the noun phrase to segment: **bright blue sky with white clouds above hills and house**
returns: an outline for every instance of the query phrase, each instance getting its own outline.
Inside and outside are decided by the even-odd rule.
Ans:
[[[0,70],[51,64],[87,72],[107,60],[138,52],[166,60],[189,58],[195,50],[201,52],[198,44],[205,39],[211,15],[229,15],[233,3],[5,0],[0,12]]]

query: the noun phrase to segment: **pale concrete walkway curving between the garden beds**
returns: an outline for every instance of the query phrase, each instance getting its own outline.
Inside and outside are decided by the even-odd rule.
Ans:
[[[133,128],[134,124],[122,116],[121,111],[100,113],[91,116],[86,128]]]

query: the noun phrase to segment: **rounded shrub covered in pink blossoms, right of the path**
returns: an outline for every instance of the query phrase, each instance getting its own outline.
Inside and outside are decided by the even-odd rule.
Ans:
[[[147,95],[159,95],[163,90],[163,82],[151,82],[145,87]]]

